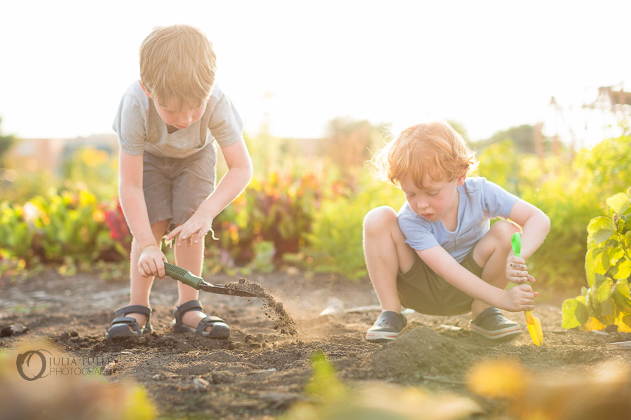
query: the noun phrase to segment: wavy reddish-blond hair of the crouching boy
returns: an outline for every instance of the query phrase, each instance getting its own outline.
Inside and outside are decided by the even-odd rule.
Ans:
[[[425,188],[426,174],[432,181],[451,182],[474,171],[478,163],[462,136],[442,120],[407,127],[372,162],[381,179],[400,186],[409,175],[418,188]]]

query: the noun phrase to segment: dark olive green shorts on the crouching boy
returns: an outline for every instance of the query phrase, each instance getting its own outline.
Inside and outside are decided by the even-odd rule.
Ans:
[[[482,276],[482,267],[473,260],[473,251],[466,256],[460,265],[476,276]],[[399,273],[397,289],[401,304],[404,307],[419,311],[421,314],[466,314],[471,310],[471,302],[473,302],[473,297],[447,283],[433,272],[419,258],[419,255],[416,255],[416,261],[408,272]]]

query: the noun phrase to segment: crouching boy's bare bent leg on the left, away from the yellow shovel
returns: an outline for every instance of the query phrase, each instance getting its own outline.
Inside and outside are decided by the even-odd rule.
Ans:
[[[414,265],[414,250],[405,243],[392,207],[377,207],[364,218],[364,256],[382,311],[400,313],[397,274]]]

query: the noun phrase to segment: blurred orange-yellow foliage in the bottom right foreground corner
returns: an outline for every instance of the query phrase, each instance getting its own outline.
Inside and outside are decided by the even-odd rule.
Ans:
[[[631,367],[621,360],[556,372],[535,372],[512,359],[482,360],[469,370],[467,385],[501,402],[493,419],[623,420],[631,412]]]

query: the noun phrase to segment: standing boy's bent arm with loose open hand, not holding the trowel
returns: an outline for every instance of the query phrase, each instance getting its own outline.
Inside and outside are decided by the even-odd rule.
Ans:
[[[210,146],[209,146],[210,147]],[[230,146],[222,147],[222,153],[228,165],[228,172],[224,175],[215,191],[204,200],[197,211],[186,223],[179,225],[166,237],[170,240],[177,235],[177,245],[191,239],[197,243],[210,231],[212,220],[225,209],[252,180],[252,160],[247,153],[245,141],[237,141]]]

